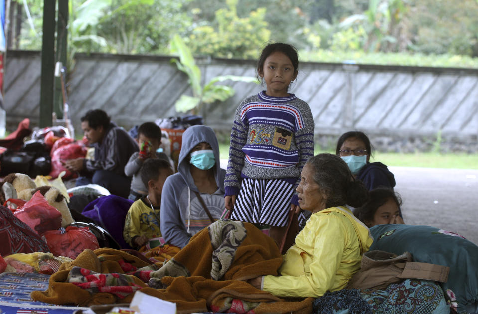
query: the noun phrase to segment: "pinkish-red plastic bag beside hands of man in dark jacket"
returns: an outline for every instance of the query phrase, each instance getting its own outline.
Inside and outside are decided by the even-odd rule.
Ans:
[[[71,172],[67,170],[63,164],[70,159],[84,158],[86,156],[86,147],[71,143],[59,147],[51,153],[51,172],[50,176],[52,178],[57,178],[58,175],[65,171],[65,175],[62,177],[63,180],[76,178],[78,174],[76,172]]]

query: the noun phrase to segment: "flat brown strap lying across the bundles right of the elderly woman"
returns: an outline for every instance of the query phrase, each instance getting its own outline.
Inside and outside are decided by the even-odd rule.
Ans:
[[[450,267],[430,263],[407,262],[398,278],[418,278],[446,283]]]

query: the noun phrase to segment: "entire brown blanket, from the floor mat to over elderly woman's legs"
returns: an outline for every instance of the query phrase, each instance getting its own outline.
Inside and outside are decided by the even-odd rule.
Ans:
[[[131,302],[133,294],[118,300],[111,293],[90,294],[67,282],[74,266],[100,273],[123,273],[120,260],[136,267],[147,264],[123,251],[85,250],[73,262],[64,263],[50,277],[48,290],[33,292],[32,299],[81,306]],[[219,220],[192,237],[185,248],[152,272],[149,288],[140,280],[135,283],[144,285],[145,288],[139,291],[175,302],[177,313],[245,313],[250,310],[254,313],[311,313],[312,298],[287,302],[244,281],[277,275],[281,264],[282,256],[275,242],[252,224]]]

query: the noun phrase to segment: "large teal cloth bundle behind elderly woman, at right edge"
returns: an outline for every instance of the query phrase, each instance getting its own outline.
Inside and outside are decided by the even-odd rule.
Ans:
[[[415,262],[450,267],[446,283],[440,283],[450,307],[459,314],[478,304],[478,246],[462,236],[430,226],[377,225],[370,228],[372,250],[397,255],[410,252]]]

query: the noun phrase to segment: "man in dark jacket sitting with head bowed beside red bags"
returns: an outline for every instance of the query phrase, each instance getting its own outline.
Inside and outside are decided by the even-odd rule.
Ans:
[[[68,170],[81,175],[76,186],[94,183],[113,195],[128,198],[131,178],[124,169],[130,156],[139,150],[138,144],[101,109],[89,110],[81,117],[81,129],[95,148],[95,159],[78,158],[65,163]]]

